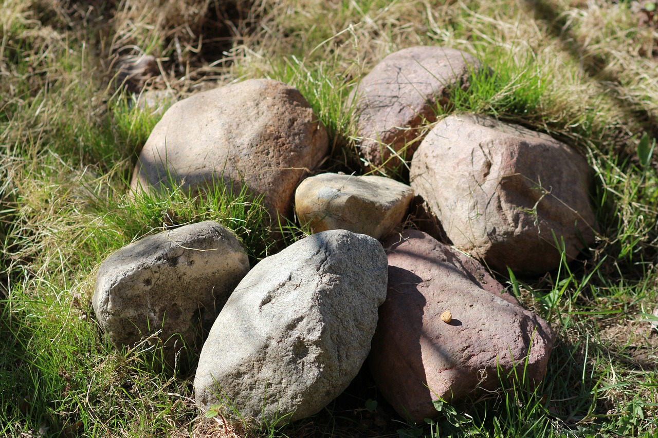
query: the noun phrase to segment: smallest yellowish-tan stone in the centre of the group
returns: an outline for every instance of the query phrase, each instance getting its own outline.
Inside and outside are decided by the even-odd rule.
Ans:
[[[413,190],[383,176],[320,174],[295,191],[295,211],[313,232],[349,230],[382,239],[404,220]]]

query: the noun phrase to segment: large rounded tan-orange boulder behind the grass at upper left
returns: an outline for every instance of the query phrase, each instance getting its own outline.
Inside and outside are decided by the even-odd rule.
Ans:
[[[275,212],[291,217],[305,169],[328,153],[326,130],[289,85],[247,80],[203,91],[172,105],[151,132],[131,188],[163,185],[196,191],[245,183]]]

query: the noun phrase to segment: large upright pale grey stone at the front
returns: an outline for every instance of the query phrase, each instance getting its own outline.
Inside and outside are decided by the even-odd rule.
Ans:
[[[346,230],[313,234],[261,260],[203,346],[197,404],[230,404],[269,424],[316,414],[365,361],[387,272],[382,244]]]

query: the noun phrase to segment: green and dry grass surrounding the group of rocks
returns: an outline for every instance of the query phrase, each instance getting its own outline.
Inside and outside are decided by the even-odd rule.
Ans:
[[[647,1],[3,0],[0,7],[0,436],[658,436],[658,22]],[[193,370],[162,370],[148,339],[117,351],[95,324],[95,270],[164,226],[218,220],[252,264],[275,251],[253,200],[221,187],[132,202],[139,149],[180,98],[246,78],[299,88],[327,126],[330,170],[363,172],[351,87],[411,45],[476,55],[495,75],[441,114],[547,132],[594,169],[595,245],[541,278],[495,273],[558,333],[547,377],[522,379],[431,424],[406,424],[362,372],[313,418],[262,431],[199,415]],[[131,60],[151,75],[116,87]],[[657,154],[658,155],[658,154]],[[405,172],[396,178],[404,181]],[[253,207],[245,213],[246,202]],[[303,236],[293,224],[291,242]],[[653,320],[658,318],[653,317]]]

